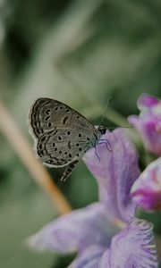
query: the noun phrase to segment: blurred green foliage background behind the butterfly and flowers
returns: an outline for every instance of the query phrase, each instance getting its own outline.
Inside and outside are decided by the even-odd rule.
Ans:
[[[30,147],[27,114],[36,97],[63,101],[96,124],[112,97],[108,126],[138,113],[141,93],[161,97],[160,29],[159,0],[0,0],[0,98]],[[66,267],[71,257],[24,246],[58,212],[3,131],[0,148],[0,267]],[[73,208],[97,200],[83,163],[65,183],[49,172]],[[160,214],[142,216],[159,236]]]

